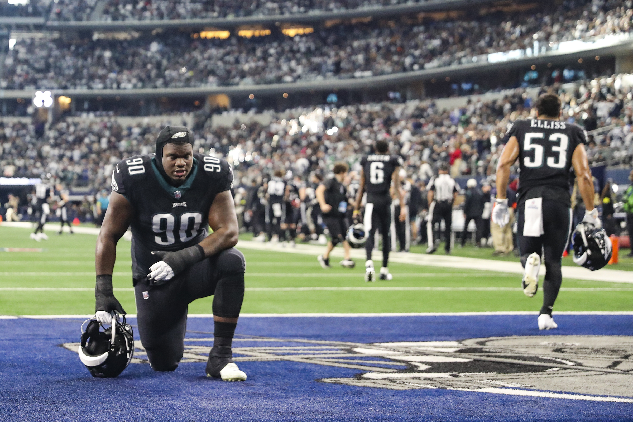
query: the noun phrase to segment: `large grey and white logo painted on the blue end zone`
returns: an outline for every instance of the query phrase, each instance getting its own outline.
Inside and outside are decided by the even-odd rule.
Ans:
[[[181,363],[206,362],[213,338],[185,338]],[[77,352],[78,343],[63,344]],[[132,363],[147,363],[135,341]],[[527,336],[460,341],[353,343],[235,338],[233,359],[358,369],[323,383],[633,403],[633,337]],[[256,376],[256,375],[254,375]],[[249,375],[251,377],[251,375]]]

